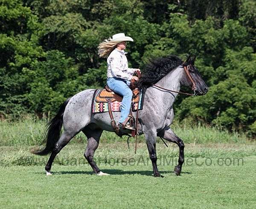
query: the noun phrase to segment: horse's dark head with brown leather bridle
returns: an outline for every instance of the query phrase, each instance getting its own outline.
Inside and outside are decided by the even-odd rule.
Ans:
[[[208,91],[208,87],[202,79],[198,69],[195,67],[195,56],[189,55],[183,63],[186,73],[184,73],[183,85],[191,87],[198,95],[204,95]]]

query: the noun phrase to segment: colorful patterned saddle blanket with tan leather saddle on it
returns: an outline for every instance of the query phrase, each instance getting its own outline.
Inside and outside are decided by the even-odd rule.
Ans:
[[[135,93],[136,94],[136,93]],[[143,94],[142,91],[138,91],[136,95],[133,96],[133,102],[131,104],[132,111],[142,110],[143,107]],[[112,112],[120,112],[122,105],[122,96],[115,94],[113,92],[108,92],[106,89],[97,89],[94,92],[93,102],[92,102],[92,112],[93,113],[103,113],[108,112],[108,100],[111,99],[111,110]]]

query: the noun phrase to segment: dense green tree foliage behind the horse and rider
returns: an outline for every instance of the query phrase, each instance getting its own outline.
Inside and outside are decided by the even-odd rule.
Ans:
[[[256,133],[254,0],[0,0],[0,116],[55,112],[103,87],[100,41],[134,38],[128,60],[196,54],[209,93],[177,99],[176,118]]]

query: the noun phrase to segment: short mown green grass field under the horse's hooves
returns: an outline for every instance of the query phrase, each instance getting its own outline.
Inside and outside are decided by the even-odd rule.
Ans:
[[[114,142],[114,140],[113,140]],[[186,144],[181,176],[173,173],[176,145],[157,143],[152,177],[145,143],[101,143],[95,160],[110,176],[93,174],[83,157],[86,143],[67,145],[46,177],[49,156],[31,146],[0,147],[1,208],[256,208],[256,143]]]

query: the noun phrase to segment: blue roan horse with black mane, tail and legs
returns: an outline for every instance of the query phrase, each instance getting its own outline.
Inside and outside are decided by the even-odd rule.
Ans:
[[[162,177],[157,170],[157,136],[161,136],[179,146],[179,160],[174,171],[175,174],[180,175],[184,162],[184,144],[169,127],[174,118],[173,103],[177,96],[177,93],[170,92],[169,90],[179,91],[181,86],[186,86],[193,87],[193,90],[196,90],[198,95],[207,93],[208,87],[201,78],[198,69],[194,66],[194,62],[195,57],[189,56],[183,62],[177,56],[170,55],[151,61],[143,69],[138,86],[144,89],[145,95],[143,110],[139,110],[138,113],[137,130],[139,135],[145,135],[155,177]],[[188,70],[188,74],[185,72],[185,69]],[[156,84],[158,87],[151,84]],[[87,89],[67,99],[61,105],[57,115],[48,124],[45,148],[32,151],[32,153],[39,155],[51,153],[45,166],[47,175],[51,174],[50,169],[56,155],[80,131],[88,139],[84,157],[97,175],[108,175],[100,171],[93,160],[93,155],[98,148],[102,131],[113,132],[113,128],[108,112],[92,113],[91,103],[94,91],[94,89]],[[113,112],[113,117],[118,121],[120,112]],[[64,132],[60,136],[62,125]]]

